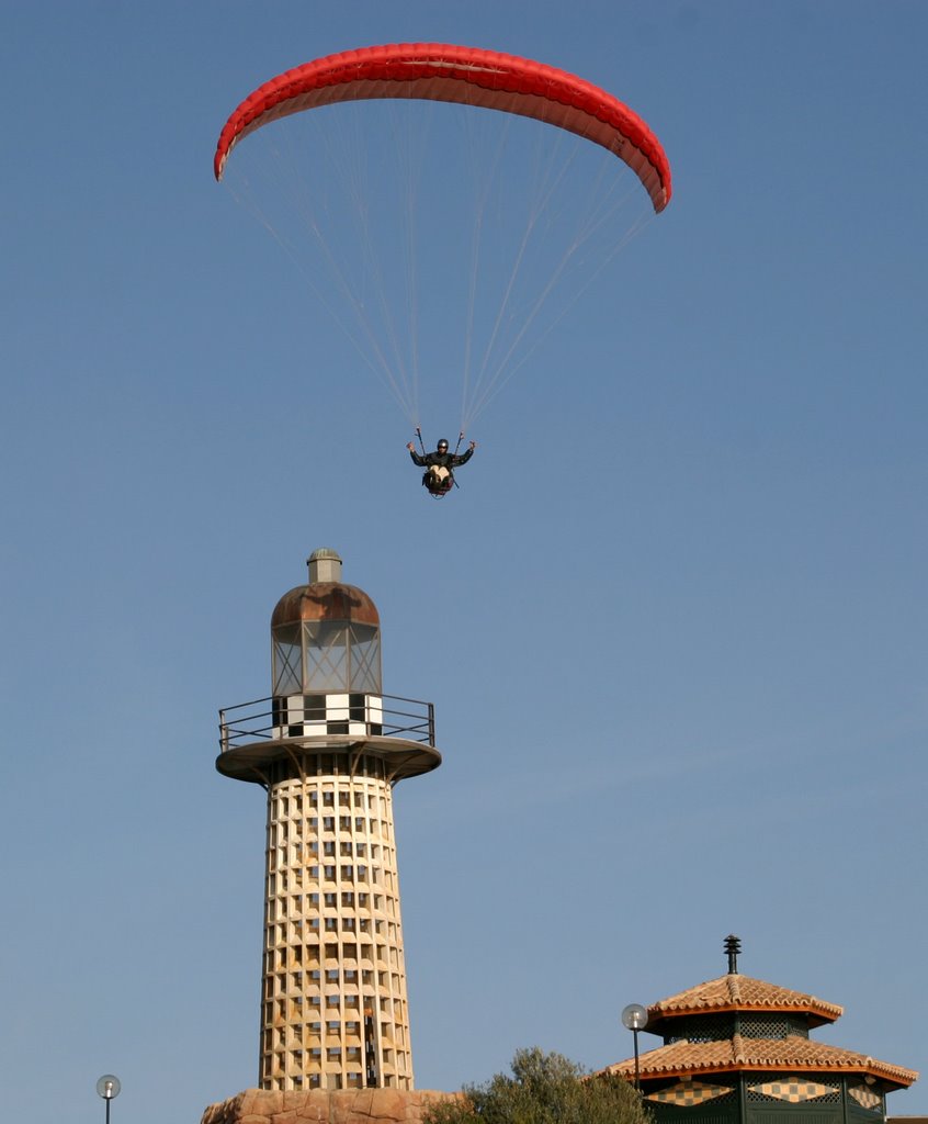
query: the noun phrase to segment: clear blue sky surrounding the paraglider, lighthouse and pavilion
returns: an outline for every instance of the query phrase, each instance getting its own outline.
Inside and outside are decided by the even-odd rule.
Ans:
[[[440,504],[211,175],[261,81],[404,39],[604,85],[675,183]],[[420,1088],[628,1057],[622,1006],[730,932],[845,1006],[820,1039],[926,1069],[926,42],[892,0],[2,6],[10,1120],[255,1082],[264,805],[216,711],[317,546],[437,708],[397,794]]]

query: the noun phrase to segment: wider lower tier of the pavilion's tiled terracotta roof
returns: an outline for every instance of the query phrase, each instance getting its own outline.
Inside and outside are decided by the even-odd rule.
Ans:
[[[713,982],[718,981],[713,980]],[[736,1034],[734,1037],[722,1039],[720,1042],[673,1042],[671,1045],[659,1046],[640,1054],[639,1068],[642,1078],[683,1077],[700,1072],[724,1073],[745,1070],[782,1072],[790,1069],[817,1073],[871,1075],[904,1087],[910,1086],[918,1078],[916,1070],[877,1061],[867,1054],[843,1050],[840,1046],[812,1042],[810,1039],[799,1035],[785,1039],[746,1039]],[[607,1066],[602,1072],[634,1077],[635,1059],[629,1058],[626,1061],[616,1062],[613,1066]]]

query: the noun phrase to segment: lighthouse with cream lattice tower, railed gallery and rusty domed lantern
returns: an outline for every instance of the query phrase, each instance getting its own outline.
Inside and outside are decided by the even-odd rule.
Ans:
[[[216,768],[267,794],[263,1089],[411,1089],[393,786],[442,763],[430,704],[381,689],[380,617],[318,550],[271,618],[271,698],[220,711]]]

